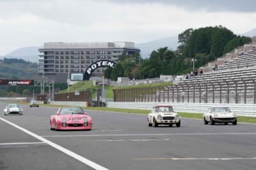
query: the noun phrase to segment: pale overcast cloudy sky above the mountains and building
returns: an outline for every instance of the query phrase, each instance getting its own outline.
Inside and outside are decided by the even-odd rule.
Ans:
[[[256,1],[0,0],[0,55],[44,42],[132,41],[222,25],[243,34],[256,25]]]

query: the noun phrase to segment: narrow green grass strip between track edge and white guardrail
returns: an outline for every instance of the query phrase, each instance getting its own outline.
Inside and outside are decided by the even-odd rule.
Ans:
[[[26,104],[28,105],[29,103],[22,102],[20,104]],[[63,105],[52,105],[52,104],[40,104],[40,106],[45,106],[45,107],[56,107],[56,108],[61,108],[65,107]],[[138,114],[145,114],[147,115],[150,110],[134,110],[134,109],[120,109],[120,108],[106,108],[106,107],[83,107],[84,110],[99,110],[99,111],[114,111],[114,112],[122,112],[122,113],[138,113]],[[202,113],[184,113],[184,112],[179,112],[180,117],[183,118],[199,118],[203,119],[203,114]],[[256,124],[256,117],[242,117],[242,116],[237,116],[237,122],[243,122],[243,123],[250,123],[250,124]]]

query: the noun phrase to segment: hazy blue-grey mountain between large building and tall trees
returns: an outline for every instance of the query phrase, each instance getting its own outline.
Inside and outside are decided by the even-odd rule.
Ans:
[[[168,37],[163,39],[156,39],[154,41],[148,41],[145,43],[138,43],[135,44],[136,48],[140,48],[141,50],[141,57],[148,58],[150,53],[153,50],[157,50],[160,47],[168,46],[170,50],[176,50],[177,46],[179,46],[178,38],[175,37]]]

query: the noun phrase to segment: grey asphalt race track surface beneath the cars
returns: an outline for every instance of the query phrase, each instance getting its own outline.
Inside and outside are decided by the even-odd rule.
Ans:
[[[87,111],[92,131],[50,131],[57,108],[23,106],[24,115],[4,116],[5,105],[0,169],[256,169],[256,125],[182,118],[181,127],[156,128],[147,115]]]

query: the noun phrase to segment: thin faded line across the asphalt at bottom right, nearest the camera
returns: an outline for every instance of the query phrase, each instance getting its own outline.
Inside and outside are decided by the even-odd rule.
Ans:
[[[136,158],[133,160],[254,160],[256,157],[240,158]]]

